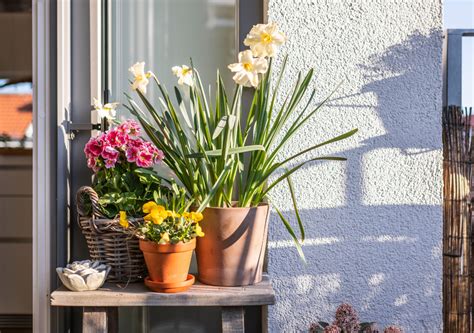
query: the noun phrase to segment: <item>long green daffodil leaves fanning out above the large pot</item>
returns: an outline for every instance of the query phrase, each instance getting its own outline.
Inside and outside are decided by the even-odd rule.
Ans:
[[[298,75],[293,89],[282,92],[280,82],[285,66],[286,58],[280,75],[273,80],[270,62],[249,106],[242,103],[242,86],[236,86],[233,95],[229,96],[219,73],[211,102],[199,73],[193,69],[194,85],[189,88],[188,98],[184,99],[175,87],[173,102],[164,85],[154,77],[161,93],[159,105],[153,105],[137,90],[147,112],[128,95],[129,105],[126,107],[138,118],[151,141],[165,153],[165,163],[199,206],[198,211],[207,206],[228,207],[235,202],[239,207],[256,206],[268,199],[271,189],[287,180],[300,238],[304,240],[304,227],[290,176],[310,162],[345,160],[335,156],[306,155],[354,135],[357,129],[279,159],[282,148],[332,96],[316,107],[312,106],[316,94],[310,88],[313,70],[304,76]],[[276,100],[282,94],[284,102],[279,105]],[[306,97],[308,99],[303,104]],[[244,107],[248,112],[243,112]],[[283,174],[270,180],[279,170]],[[303,257],[296,233],[283,214],[277,212]]]

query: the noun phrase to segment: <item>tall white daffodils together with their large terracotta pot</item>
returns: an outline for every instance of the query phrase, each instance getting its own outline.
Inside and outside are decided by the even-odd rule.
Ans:
[[[271,202],[270,191],[283,181],[288,184],[303,241],[304,227],[291,175],[314,161],[345,160],[334,156],[304,157],[357,132],[354,129],[312,144],[293,156],[279,156],[332,95],[313,105],[312,69],[299,74],[290,91],[280,89],[287,58],[277,77],[272,75],[272,58],[285,40],[274,23],[254,26],[244,42],[250,50],[240,52],[239,62],[229,65],[235,73],[233,94],[227,92],[217,73],[212,102],[192,64],[172,68],[182,87],[175,87],[175,101],[159,78],[145,71],[143,62],[130,68],[134,76],[132,88],[142,106],[127,95],[126,107],[153,143],[165,152],[164,162],[186,188],[197,211],[203,212],[206,237],[198,240],[196,254],[198,278],[204,283],[233,286],[261,280],[269,215],[266,202]],[[161,93],[157,105],[146,96],[150,81]],[[250,103],[242,99],[244,89],[253,91]],[[272,177],[277,171],[281,175]],[[304,259],[296,232],[273,207]]]

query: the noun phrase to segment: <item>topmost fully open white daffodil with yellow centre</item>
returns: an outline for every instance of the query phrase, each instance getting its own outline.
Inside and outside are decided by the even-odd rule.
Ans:
[[[286,37],[278,31],[276,23],[257,24],[248,33],[244,45],[250,47],[254,57],[273,57],[285,41]]]

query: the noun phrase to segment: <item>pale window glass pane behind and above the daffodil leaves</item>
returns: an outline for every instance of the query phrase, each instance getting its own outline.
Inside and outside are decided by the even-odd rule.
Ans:
[[[130,93],[128,68],[145,61],[168,91],[177,85],[171,67],[192,57],[205,86],[214,84],[216,69],[226,86],[235,62],[236,0],[115,0],[111,1],[111,100],[124,102]],[[156,101],[158,91],[149,89]],[[124,108],[119,112],[126,115]]]

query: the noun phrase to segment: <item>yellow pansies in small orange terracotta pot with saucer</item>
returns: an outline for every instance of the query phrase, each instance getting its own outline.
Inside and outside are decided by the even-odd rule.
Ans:
[[[186,191],[174,184],[171,193],[143,205],[144,222],[134,231],[148,269],[145,285],[165,293],[184,291],[194,283],[189,266],[196,237],[204,236],[199,225],[203,216],[188,211]]]

